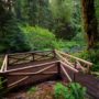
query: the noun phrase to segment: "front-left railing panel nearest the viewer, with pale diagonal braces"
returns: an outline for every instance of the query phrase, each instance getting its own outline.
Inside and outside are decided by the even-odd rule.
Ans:
[[[44,77],[57,75],[57,64],[58,61],[8,70],[4,73],[8,76],[8,88],[11,89],[19,85],[31,84],[42,80]]]

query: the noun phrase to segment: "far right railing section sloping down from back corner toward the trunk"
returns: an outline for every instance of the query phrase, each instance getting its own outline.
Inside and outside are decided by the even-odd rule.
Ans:
[[[69,67],[78,68],[79,70],[84,73],[90,72],[90,67],[92,66],[92,63],[75,57],[67,53],[63,53],[61,51],[55,50],[55,53],[57,55],[57,58],[59,58],[62,62],[64,62]]]

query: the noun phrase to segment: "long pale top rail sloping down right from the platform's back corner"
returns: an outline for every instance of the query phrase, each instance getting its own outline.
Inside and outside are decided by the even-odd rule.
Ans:
[[[61,54],[63,54],[63,55],[65,55],[65,56],[68,56],[68,57],[70,57],[70,58],[74,58],[74,59],[77,59],[77,61],[79,61],[79,62],[82,62],[82,63],[85,63],[85,64],[87,64],[87,65],[89,65],[89,66],[92,66],[92,63],[87,62],[87,61],[85,61],[85,59],[75,57],[75,56],[73,56],[73,55],[69,55],[69,54],[67,54],[67,53],[63,53],[63,52],[61,52],[61,51],[56,51],[56,52],[58,52],[58,53],[61,53]]]

